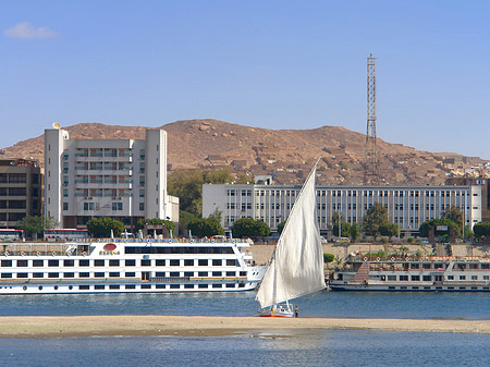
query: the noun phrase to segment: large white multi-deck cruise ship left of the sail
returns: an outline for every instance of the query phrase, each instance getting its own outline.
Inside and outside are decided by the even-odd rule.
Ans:
[[[265,273],[243,240],[0,244],[0,294],[236,292]]]

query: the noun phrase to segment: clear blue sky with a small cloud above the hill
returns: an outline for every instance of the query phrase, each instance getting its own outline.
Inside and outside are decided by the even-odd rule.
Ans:
[[[52,122],[213,118],[490,159],[489,1],[0,2],[0,147]]]

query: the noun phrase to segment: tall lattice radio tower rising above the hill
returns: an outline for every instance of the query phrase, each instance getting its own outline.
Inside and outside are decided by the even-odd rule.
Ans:
[[[371,53],[367,60],[367,130],[364,184],[379,185],[379,161],[376,147],[376,58]]]

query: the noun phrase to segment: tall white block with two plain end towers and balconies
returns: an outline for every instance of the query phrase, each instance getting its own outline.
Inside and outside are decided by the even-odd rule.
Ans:
[[[45,131],[45,216],[61,228],[112,217],[134,229],[140,218],[179,221],[179,198],[167,195],[167,133],[145,139],[70,139]]]

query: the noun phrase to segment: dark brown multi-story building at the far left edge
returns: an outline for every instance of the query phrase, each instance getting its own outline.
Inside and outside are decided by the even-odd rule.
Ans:
[[[0,160],[0,228],[15,228],[26,216],[41,215],[42,178],[39,163],[27,159]]]

